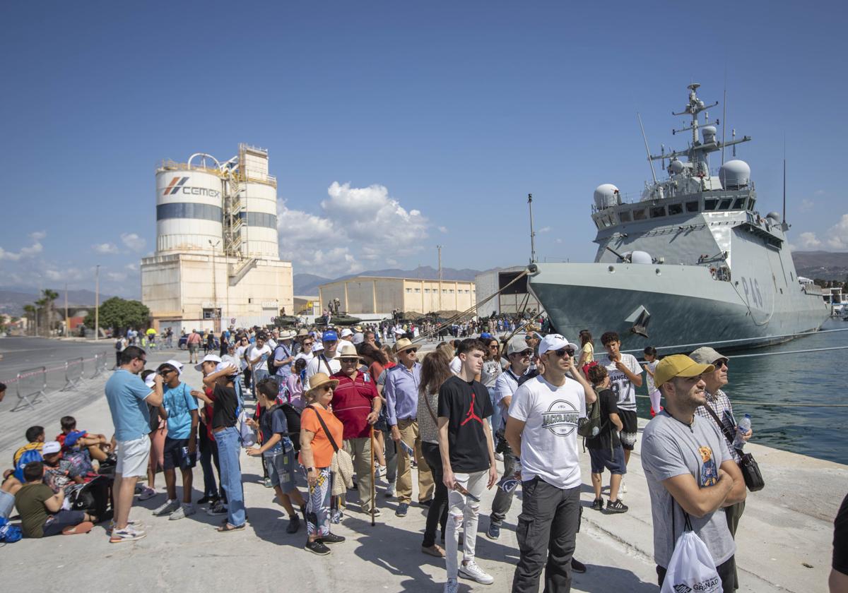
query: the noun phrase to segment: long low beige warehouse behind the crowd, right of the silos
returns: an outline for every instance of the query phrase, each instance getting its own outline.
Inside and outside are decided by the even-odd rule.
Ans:
[[[349,315],[465,311],[477,302],[473,282],[357,276],[318,287],[321,310],[338,298]]]

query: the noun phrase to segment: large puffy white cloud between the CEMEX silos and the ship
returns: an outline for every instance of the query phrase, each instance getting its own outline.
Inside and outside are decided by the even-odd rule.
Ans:
[[[355,274],[365,269],[363,262],[388,263],[400,246],[404,255],[423,247],[427,218],[407,211],[385,186],[334,181],[327,195],[320,215],[289,209],[283,200],[277,205],[280,252],[298,271]]]

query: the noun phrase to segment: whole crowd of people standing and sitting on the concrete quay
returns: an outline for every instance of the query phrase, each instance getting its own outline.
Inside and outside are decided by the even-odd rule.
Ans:
[[[658,581],[690,526],[706,543],[723,590],[738,587],[734,536],[746,490],[739,443],[728,437],[737,433],[723,391],[728,357],[702,347],[658,360],[647,348],[640,364],[621,352],[615,332],[600,336],[604,352],[596,354],[589,331],[577,345],[559,334],[540,335],[532,325],[509,341],[483,331],[422,356],[422,341],[409,327],[392,332],[392,346],[388,329],[230,330],[221,334],[220,350],[199,361],[202,340],[192,341],[192,332],[191,362],[203,374],[198,389],[182,379],[176,359],[146,369],[146,351],[126,345],[105,387],[111,439],[77,430],[70,417],[53,441],[31,427],[14,468],[4,473],[0,510],[8,517],[14,504],[30,537],[83,533],[111,515],[111,542],[138,540],[147,534],[131,521],[131,507],[136,496],[157,496],[160,469],[166,499],[153,515],[178,520],[204,506],[221,516],[220,532],[242,530],[239,457],[247,447],[287,513],[287,533],[304,524],[305,549],[315,554],[344,541],[332,525],[345,513],[381,515],[377,481],[385,484],[383,498],[396,498],[397,516],[413,500],[426,507],[421,551],[444,558],[449,592],[458,590],[460,576],[494,582],[475,547],[483,492],[496,489],[484,533],[498,540],[520,488],[512,590],[537,591],[544,579],[544,590],[566,591],[572,574],[586,569],[574,558],[578,432],[594,423],[585,439],[591,507],[628,512],[625,479],[639,435],[635,391],[646,378],[653,419],[642,435],[641,462]],[[246,409],[250,400],[254,413]],[[744,443],[750,435],[739,438]],[[195,502],[198,461],[204,487]],[[611,474],[606,500],[605,471]],[[345,502],[348,490],[358,495],[358,509]]]

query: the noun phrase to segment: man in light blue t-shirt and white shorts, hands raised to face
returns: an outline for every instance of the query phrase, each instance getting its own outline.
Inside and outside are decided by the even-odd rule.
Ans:
[[[106,401],[118,441],[118,463],[115,466],[113,492],[114,524],[109,541],[140,540],[144,531],[133,529],[130,518],[132,496],[138,477],[147,474],[150,457],[150,416],[148,404],[162,405],[162,376],[157,374],[153,387],[144,385],[138,374],[147,363],[147,354],[138,346],[128,346],[120,353],[120,369],[106,382]],[[152,390],[152,391],[151,391]]]

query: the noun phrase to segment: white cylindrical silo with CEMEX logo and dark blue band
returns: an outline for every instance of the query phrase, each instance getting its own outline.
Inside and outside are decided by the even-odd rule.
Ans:
[[[156,252],[209,252],[223,234],[220,169],[165,162],[156,171]],[[206,157],[209,158],[209,157]],[[214,159],[213,159],[214,160]]]

